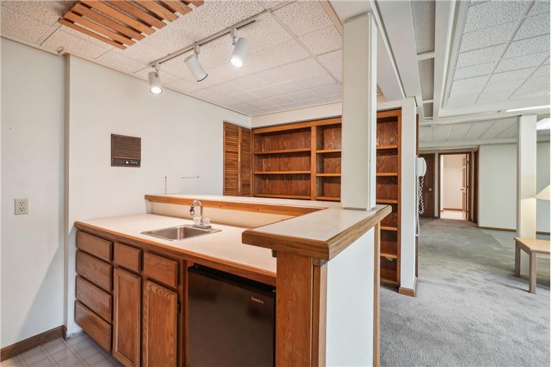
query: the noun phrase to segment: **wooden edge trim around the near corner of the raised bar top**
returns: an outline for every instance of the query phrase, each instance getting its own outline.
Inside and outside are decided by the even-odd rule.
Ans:
[[[331,260],[360,238],[361,235],[375,227],[384,217],[391,213],[388,205],[377,205],[371,216],[353,224],[351,227],[324,241],[298,238],[289,235],[262,232],[262,229],[247,229],[242,233],[242,242],[264,247],[275,251],[289,252],[323,260]],[[378,259],[378,258],[377,258]]]

